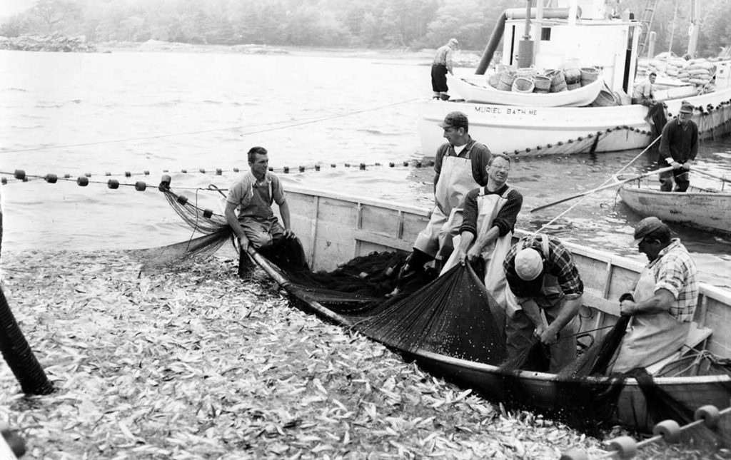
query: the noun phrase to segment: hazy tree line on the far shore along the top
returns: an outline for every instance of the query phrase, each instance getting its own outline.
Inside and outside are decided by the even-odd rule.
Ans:
[[[690,1],[624,0],[616,9],[629,9],[640,19],[648,3],[656,3],[656,53],[672,49],[682,55]],[[717,55],[731,42],[731,7],[727,0],[700,4],[699,54]],[[38,0],[28,11],[4,18],[0,35],[404,50],[458,37],[463,49],[481,50],[502,11],[525,6],[522,0]]]

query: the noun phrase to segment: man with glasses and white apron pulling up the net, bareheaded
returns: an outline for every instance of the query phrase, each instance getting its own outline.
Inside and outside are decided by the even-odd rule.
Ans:
[[[488,185],[467,193],[460,234],[453,240],[455,250],[442,269],[444,273],[455,264],[482,261],[485,288],[503,310],[501,319],[504,319],[507,283],[503,261],[512,245],[515,221],[523,206],[523,195],[507,185],[509,174],[510,157],[494,153],[488,161]]]

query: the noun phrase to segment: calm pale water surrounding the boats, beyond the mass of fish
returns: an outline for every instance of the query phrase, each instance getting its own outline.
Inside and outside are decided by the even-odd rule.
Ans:
[[[433,173],[427,168],[344,167],[433,156],[421,152],[416,133],[413,101],[431,93],[422,64],[340,55],[0,51],[0,171],[71,177],[88,172],[102,182],[4,185],[4,249],[148,248],[186,239],[189,229],[154,186],[110,190],[105,172],[121,183],[156,185],[168,169],[178,190],[227,188],[236,175],[232,169],[246,168],[244,153],[253,145],[268,147],[271,166],[292,168],[295,173],[282,175],[285,185],[428,206]],[[489,147],[490,139],[478,140]],[[572,203],[536,214],[528,210],[596,187],[637,153],[518,161],[510,177],[525,196],[518,226],[538,229]],[[652,160],[643,156],[628,171],[644,171]],[[731,142],[705,142],[699,160],[711,171],[731,172]],[[317,163],[321,172],[297,172]],[[213,174],[217,168],[222,175]],[[151,175],[124,177],[144,170]],[[716,186],[700,177],[693,181]],[[189,193],[221,209],[217,193]],[[607,190],[549,231],[641,260],[628,246],[639,219]],[[673,230],[705,279],[731,285],[730,238],[683,226]]]

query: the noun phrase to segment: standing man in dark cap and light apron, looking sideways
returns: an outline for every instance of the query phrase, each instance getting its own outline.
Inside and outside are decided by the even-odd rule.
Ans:
[[[461,204],[466,194],[488,183],[490,150],[469,135],[462,112],[450,112],[439,124],[448,142],[434,158],[434,208],[426,228],[417,236],[414,250],[398,274],[399,281],[423,270],[434,258],[442,261],[452,252],[452,237],[462,224]],[[392,294],[398,292],[397,287]]]

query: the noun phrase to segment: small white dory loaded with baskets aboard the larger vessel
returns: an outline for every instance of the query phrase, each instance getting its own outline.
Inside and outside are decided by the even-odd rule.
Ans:
[[[599,96],[604,81],[594,82],[571,91],[560,93],[518,93],[500,91],[488,85],[484,75],[456,77],[447,74],[447,84],[461,99],[481,104],[515,105],[519,107],[582,107],[591,104]]]

